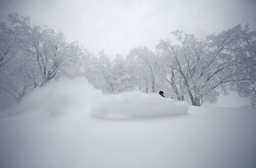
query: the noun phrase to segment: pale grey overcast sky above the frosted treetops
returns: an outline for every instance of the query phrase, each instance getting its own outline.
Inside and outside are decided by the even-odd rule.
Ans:
[[[17,12],[114,58],[139,46],[154,51],[175,30],[198,38],[247,22],[256,30],[255,9],[256,0],[0,0],[0,20]]]

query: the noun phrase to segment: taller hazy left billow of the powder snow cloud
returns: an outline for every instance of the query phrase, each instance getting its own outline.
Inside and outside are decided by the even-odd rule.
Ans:
[[[95,89],[85,78],[51,81],[45,87],[37,88],[23,98],[16,107],[9,109],[7,115],[24,112],[43,112],[52,117],[63,116],[66,113],[89,113],[89,109],[101,90]]]

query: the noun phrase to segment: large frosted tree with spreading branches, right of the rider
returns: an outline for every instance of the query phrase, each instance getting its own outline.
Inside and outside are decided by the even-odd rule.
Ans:
[[[171,63],[167,66],[179,73],[192,105],[214,103],[220,92],[226,94],[234,84],[255,83],[255,78],[249,76],[255,74],[255,48],[251,46],[255,44],[255,32],[246,29],[237,25],[204,40],[175,31],[180,45],[160,41],[158,48],[169,55]]]

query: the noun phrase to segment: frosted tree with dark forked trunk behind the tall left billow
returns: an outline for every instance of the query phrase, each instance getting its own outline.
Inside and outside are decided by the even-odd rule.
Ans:
[[[35,85],[44,86],[51,79],[61,74],[61,67],[67,66],[74,56],[65,42],[62,32],[55,33],[48,26],[29,26],[28,17],[19,17],[17,13],[8,15],[8,20],[14,25],[19,47],[24,59],[32,59],[29,65],[29,76],[35,76]],[[17,33],[16,33],[17,32]],[[33,66],[33,67],[32,67]]]

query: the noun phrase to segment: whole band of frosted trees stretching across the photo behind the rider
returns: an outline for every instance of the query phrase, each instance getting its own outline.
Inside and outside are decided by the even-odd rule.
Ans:
[[[85,77],[106,94],[163,90],[195,106],[233,91],[256,108],[256,32],[249,23],[204,39],[181,30],[171,34],[155,51],[139,46],[111,60],[104,49],[95,55],[67,42],[61,31],[31,26],[30,17],[10,13],[0,23],[0,109],[63,76]]]

